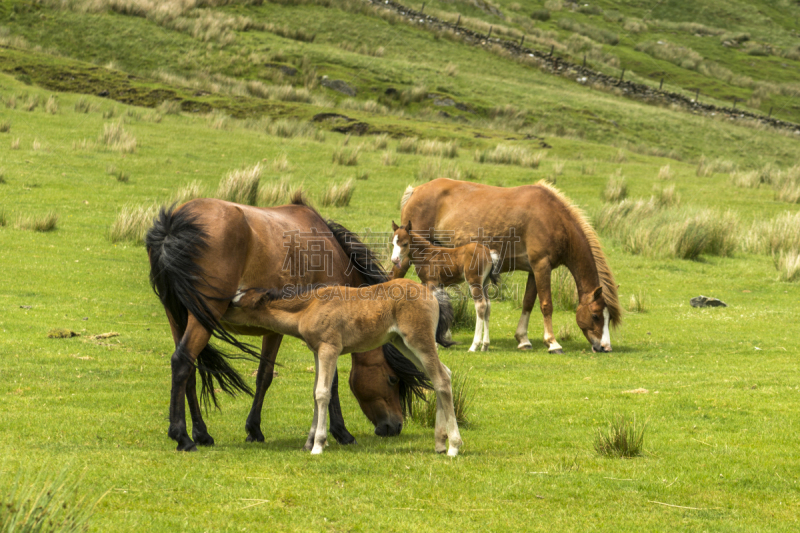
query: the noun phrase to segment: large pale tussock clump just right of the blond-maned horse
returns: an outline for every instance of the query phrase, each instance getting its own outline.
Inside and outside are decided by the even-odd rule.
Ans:
[[[702,254],[730,256],[739,247],[739,220],[733,212],[666,207],[655,197],[606,203],[594,223],[633,254],[697,259]]]

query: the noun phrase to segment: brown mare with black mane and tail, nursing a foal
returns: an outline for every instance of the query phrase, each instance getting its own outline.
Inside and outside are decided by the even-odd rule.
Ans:
[[[325,222],[299,196],[293,205],[261,209],[214,199],[192,200],[162,209],[147,234],[150,281],[169,320],[175,352],[169,436],[178,450],[212,445],[203,422],[195,387],[202,378],[201,398],[217,404],[214,380],[223,391],[251,393],[250,388],[209,339],[214,336],[259,360],[253,405],[245,429],[248,441],[263,441],[261,408],[273,377],[283,336],[260,326],[226,322],[230,300],[241,287],[282,287],[315,283],[372,285],[387,280],[369,249],[335,222]],[[262,337],[260,352],[232,333]],[[241,357],[241,355],[239,356]],[[352,354],[350,388],[375,433],[400,433],[412,394],[428,382],[395,348]],[[330,403],[331,433],[342,444],[355,442],[339,408],[334,375]],[[192,417],[186,430],[185,404]]]

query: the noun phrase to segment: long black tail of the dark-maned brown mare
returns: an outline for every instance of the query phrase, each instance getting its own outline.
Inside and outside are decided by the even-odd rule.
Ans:
[[[260,355],[252,346],[238,341],[225,331],[216,319],[207,300],[219,299],[205,295],[199,287],[214,288],[205,279],[197,261],[208,251],[208,234],[197,222],[197,216],[183,209],[175,211],[161,208],[147,232],[147,254],[150,257],[150,285],[158,295],[164,308],[172,316],[180,336],[186,332],[189,314],[211,334],[247,355],[259,359]],[[214,291],[215,292],[215,291]],[[181,353],[188,359],[188,354]],[[242,376],[228,363],[225,354],[207,344],[197,355],[196,367],[202,382],[201,398],[208,407],[209,398],[219,407],[214,392],[214,380],[224,392],[235,396],[237,391],[252,395],[252,391]]]

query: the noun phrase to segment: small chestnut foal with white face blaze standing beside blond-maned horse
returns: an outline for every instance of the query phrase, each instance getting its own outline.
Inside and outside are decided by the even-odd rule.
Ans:
[[[469,351],[474,352],[478,346],[483,352],[488,350],[489,314],[492,310],[486,286],[489,281],[495,285],[500,282],[495,272],[495,263],[500,256],[477,242],[457,248],[436,246],[420,232],[412,230],[411,222],[398,226],[393,220],[392,230],[393,264],[400,265],[408,259],[420,281],[433,287],[449,287],[462,281],[469,283],[475,301],[475,338]]]

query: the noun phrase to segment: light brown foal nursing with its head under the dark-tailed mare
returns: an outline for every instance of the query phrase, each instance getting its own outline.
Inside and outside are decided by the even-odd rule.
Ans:
[[[433,382],[436,451],[458,455],[461,436],[453,409],[450,370],[436,353],[437,342],[452,344],[442,337],[453,319],[444,291],[432,291],[406,279],[360,288],[296,289],[241,289],[225,320],[236,327],[266,328],[297,337],[314,352],[314,421],[304,449],[318,455],[327,445],[325,412],[339,355],[392,343]]]

